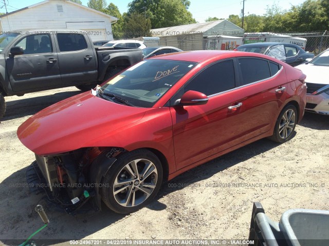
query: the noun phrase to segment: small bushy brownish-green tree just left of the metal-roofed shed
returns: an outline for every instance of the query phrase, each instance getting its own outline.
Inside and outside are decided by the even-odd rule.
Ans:
[[[124,23],[124,37],[136,38],[142,36],[151,36],[151,20],[145,18],[139,13],[132,13],[127,16]]]

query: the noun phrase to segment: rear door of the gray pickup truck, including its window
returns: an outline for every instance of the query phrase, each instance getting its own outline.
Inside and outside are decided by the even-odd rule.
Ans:
[[[56,44],[63,86],[97,81],[93,44],[81,33],[57,33]]]

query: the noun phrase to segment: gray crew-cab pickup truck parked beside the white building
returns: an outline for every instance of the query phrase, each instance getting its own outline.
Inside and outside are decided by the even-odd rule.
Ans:
[[[76,86],[86,91],[142,59],[140,49],[95,48],[78,30],[0,35],[0,118],[5,96]]]

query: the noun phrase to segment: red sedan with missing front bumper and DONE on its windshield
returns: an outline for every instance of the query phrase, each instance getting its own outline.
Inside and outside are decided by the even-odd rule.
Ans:
[[[38,178],[68,213],[83,204],[131,213],[164,180],[269,137],[293,137],[305,75],[266,55],[192,51],[143,60],[101,87],[52,105],[17,135]],[[38,174],[38,175],[35,175]]]

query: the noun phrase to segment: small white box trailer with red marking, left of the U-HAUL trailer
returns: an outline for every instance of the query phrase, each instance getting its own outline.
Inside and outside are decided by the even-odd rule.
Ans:
[[[207,50],[234,50],[240,45],[242,45],[242,37],[225,35],[207,37]]]

